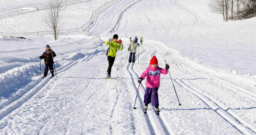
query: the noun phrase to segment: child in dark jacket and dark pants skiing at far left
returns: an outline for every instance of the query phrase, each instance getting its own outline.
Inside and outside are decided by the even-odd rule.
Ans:
[[[55,56],[56,56],[55,52],[51,50],[49,45],[46,45],[45,52],[39,57],[40,59],[44,58],[44,63],[45,63],[43,78],[47,76],[49,68],[51,72],[51,78],[54,76],[53,57]]]

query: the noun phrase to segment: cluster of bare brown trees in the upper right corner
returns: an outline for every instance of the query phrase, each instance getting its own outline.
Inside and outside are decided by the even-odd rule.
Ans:
[[[209,9],[223,14],[223,20],[245,19],[256,16],[256,0],[209,0]]]

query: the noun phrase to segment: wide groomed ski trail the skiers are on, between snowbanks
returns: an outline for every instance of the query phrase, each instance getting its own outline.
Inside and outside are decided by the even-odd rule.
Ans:
[[[243,90],[247,93],[240,94],[242,88],[223,78],[217,78],[209,73],[197,73],[192,67],[179,64],[180,60],[172,56],[172,50],[164,44],[149,42],[145,41],[138,49],[135,65],[128,64],[127,50],[123,50],[122,55],[121,51],[117,52],[112,68],[112,76],[118,76],[117,80],[104,79],[107,68],[104,51],[86,55],[66,64],[59,69],[58,77],[50,79],[50,76],[47,76],[28,90],[28,93],[0,110],[1,132],[170,135],[205,134],[206,128],[212,127],[212,134],[255,134],[255,127],[250,123],[253,117],[244,118],[243,115],[244,111],[250,111],[249,106],[255,104],[252,98],[247,98],[253,97],[253,93]],[[155,109],[151,105],[148,113],[144,114],[144,81],[140,85],[135,104],[137,109],[133,109],[138,77],[153,55],[157,56],[160,67],[164,67],[164,60],[169,63],[174,85],[182,103],[182,106],[178,106],[169,76],[161,75],[158,92],[161,110],[159,116],[155,114]],[[229,85],[223,86],[219,81]],[[203,87],[198,87],[200,84],[204,84]],[[213,87],[214,89],[211,89]],[[218,95],[223,89],[225,94],[223,99],[219,99]],[[229,95],[237,96],[235,104],[229,100]],[[247,109],[237,110],[237,106],[245,104],[248,106]],[[187,124],[181,125],[182,121]],[[33,126],[31,123],[34,123]],[[216,123],[233,128],[219,130],[214,125]],[[9,128],[14,125],[15,130]]]

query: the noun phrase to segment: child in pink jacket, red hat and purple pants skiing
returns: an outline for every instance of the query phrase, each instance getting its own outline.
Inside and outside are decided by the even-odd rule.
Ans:
[[[152,96],[152,105],[155,106],[156,112],[159,113],[158,88],[160,86],[160,74],[166,75],[170,67],[168,64],[165,65],[165,69],[158,67],[158,60],[155,56],[151,58],[149,64],[150,66],[141,74],[138,82],[141,83],[141,81],[147,77],[144,94],[144,110],[147,111]]]

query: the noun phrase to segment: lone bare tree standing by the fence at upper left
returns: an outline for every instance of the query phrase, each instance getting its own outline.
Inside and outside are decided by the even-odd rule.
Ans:
[[[63,2],[62,0],[48,0],[47,3],[47,15],[45,17],[45,23],[47,23],[48,26],[51,27],[51,30],[53,31],[54,39],[58,39],[59,30],[60,30],[60,14],[64,10]]]

